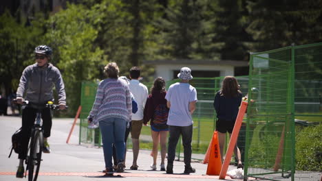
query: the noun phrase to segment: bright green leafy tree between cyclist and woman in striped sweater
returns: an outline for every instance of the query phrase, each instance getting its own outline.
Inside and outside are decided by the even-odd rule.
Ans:
[[[98,31],[96,14],[84,5],[68,5],[48,21],[45,39],[54,49],[54,64],[63,72],[67,103],[76,110],[81,100],[81,82],[96,80],[107,64],[103,50],[94,44]]]

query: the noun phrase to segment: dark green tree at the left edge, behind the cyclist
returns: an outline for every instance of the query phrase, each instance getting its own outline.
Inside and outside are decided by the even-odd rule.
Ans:
[[[23,69],[34,62],[32,52],[40,42],[43,28],[37,21],[32,24],[26,27],[18,23],[8,11],[0,16],[0,81],[7,96],[17,90]]]

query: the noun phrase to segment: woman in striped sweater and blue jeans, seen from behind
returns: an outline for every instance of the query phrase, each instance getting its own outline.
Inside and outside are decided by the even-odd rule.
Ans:
[[[116,146],[118,158],[117,172],[124,171],[125,130],[131,120],[132,104],[129,86],[125,80],[118,79],[118,65],[115,62],[105,67],[107,79],[98,84],[94,105],[89,112],[88,121],[99,123],[102,134],[105,172],[113,173],[112,145]]]

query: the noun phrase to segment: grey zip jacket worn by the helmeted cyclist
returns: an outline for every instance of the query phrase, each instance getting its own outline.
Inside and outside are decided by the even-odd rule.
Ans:
[[[66,105],[66,93],[61,72],[52,64],[47,67],[38,67],[32,64],[23,70],[17,97],[23,97],[34,104],[45,104],[54,99],[52,88],[56,87],[58,104]]]

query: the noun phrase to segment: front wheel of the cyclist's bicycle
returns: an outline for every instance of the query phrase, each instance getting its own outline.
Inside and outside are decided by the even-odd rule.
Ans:
[[[28,157],[28,181],[36,181],[41,165],[43,151],[43,132],[35,130],[30,141],[30,154]]]

